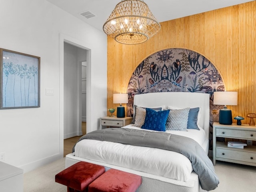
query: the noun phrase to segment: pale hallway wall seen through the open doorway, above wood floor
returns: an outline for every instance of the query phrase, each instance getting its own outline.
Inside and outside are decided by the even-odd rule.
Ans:
[[[64,42],[64,139],[85,134],[87,52]]]

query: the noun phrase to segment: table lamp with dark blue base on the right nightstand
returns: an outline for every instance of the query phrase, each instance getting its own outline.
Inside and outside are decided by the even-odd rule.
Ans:
[[[224,108],[220,109],[219,123],[223,125],[231,125],[232,111],[228,109],[226,105],[237,105],[237,92],[231,92],[231,91],[214,92],[213,104],[224,105]]]

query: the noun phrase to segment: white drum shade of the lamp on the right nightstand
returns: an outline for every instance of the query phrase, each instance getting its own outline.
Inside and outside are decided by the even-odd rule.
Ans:
[[[237,92],[218,91],[214,92],[214,105],[237,105]]]

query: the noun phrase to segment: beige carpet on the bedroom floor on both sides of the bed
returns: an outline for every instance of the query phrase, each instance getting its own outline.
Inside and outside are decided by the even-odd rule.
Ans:
[[[24,192],[66,192],[55,182],[55,175],[64,170],[65,158],[24,174]],[[214,166],[220,184],[214,192],[256,191],[256,167],[217,161]]]

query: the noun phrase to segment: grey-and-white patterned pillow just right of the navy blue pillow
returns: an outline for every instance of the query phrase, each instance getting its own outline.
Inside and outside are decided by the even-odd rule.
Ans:
[[[166,120],[166,130],[186,131],[190,108],[170,110]]]

